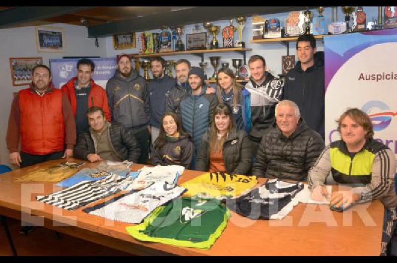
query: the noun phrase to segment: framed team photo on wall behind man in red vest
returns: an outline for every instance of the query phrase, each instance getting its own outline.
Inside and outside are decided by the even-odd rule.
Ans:
[[[43,64],[42,57],[10,58],[12,86],[27,85],[32,82],[32,69],[39,64]]]

